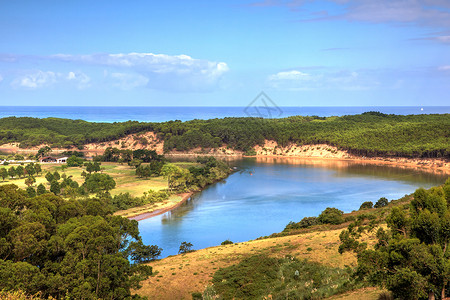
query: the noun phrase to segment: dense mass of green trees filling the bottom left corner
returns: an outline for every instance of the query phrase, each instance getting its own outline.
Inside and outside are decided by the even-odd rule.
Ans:
[[[0,290],[56,299],[130,299],[161,253],[138,224],[112,216],[108,199],[30,197],[0,186]],[[136,297],[137,298],[137,297]]]

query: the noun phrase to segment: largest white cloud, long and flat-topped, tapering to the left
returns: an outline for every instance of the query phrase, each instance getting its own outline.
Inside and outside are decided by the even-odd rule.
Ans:
[[[134,79],[127,75],[127,82],[138,80],[141,86],[147,79],[147,86],[153,89],[171,91],[205,91],[214,88],[229,68],[224,62],[194,59],[188,55],[166,55],[153,53],[128,54],[57,54],[49,59],[64,62],[83,63],[115,69],[112,73],[136,73]],[[139,77],[139,76],[140,77]],[[116,78],[117,79],[117,78]],[[122,77],[122,81],[124,78]],[[132,88],[134,84],[125,84]]]

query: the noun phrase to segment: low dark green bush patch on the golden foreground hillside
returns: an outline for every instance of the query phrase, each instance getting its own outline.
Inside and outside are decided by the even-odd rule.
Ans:
[[[294,257],[254,255],[219,269],[211,290],[214,299],[322,299],[351,288],[350,274]]]

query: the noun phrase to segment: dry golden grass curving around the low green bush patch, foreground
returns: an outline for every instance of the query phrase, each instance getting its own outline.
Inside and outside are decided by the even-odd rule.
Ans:
[[[274,257],[293,255],[332,267],[355,266],[353,253],[338,253],[341,231],[255,240],[168,257],[149,264],[155,275],[144,281],[137,293],[149,299],[192,299],[191,294],[202,292],[219,268],[236,264],[253,254],[264,253]]]

